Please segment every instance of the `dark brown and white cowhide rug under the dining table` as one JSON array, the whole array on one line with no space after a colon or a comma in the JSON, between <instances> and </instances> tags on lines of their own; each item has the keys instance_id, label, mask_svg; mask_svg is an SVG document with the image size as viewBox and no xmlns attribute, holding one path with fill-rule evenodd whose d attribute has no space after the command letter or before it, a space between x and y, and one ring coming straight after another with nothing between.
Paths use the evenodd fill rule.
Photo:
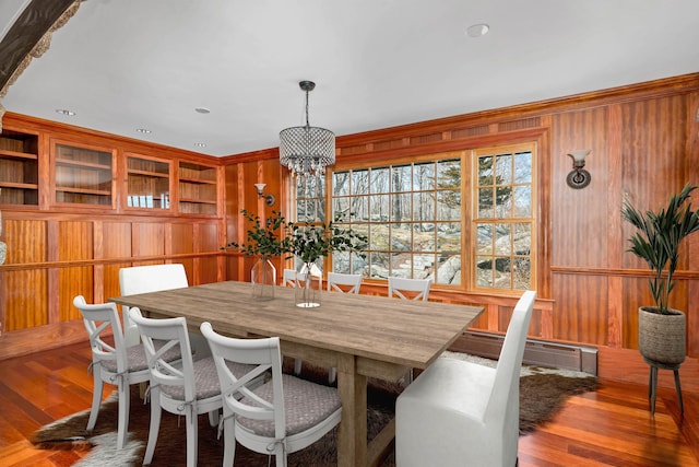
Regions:
<instances>
[{"instance_id":1,"label":"dark brown and white cowhide rug under the dining table","mask_svg":"<svg viewBox=\"0 0 699 467\"><path fill-rule=\"evenodd\" d=\"M445 352L445 357L476 361L495 365L496 362L463 353ZM285 362L285 369L293 367L293 361ZM327 371L304 364L303 376L324 383ZM536 427L550 420L560 409L566 398L573 394L595 390L597 381L587 373L522 366L520 378L520 434L534 431ZM402 382L387 383L370 380L367 393L367 431L372 439L393 417L395 397L402 390ZM141 465L149 432L149 407L139 398L139 392L131 392L131 415L129 419L129 442L125 450L116 450L117 401L112 396L103 402L97 424L92 433L85 431L90 410L85 410L51 424L34 433L32 442L45 450L88 450L75 466L125 466ZM115 393L116 395L116 393ZM181 424L181 427L179 425ZM220 466L223 457L223 440L216 436L216 429L209 425L208 417L199 417L199 466ZM183 465L186 458L186 432L183 419L163 412L158 442L152 466ZM288 456L289 466L334 466L336 465L336 429L313 445ZM254 467L266 466L268 456L252 453L242 446L236 447L235 465ZM383 467L395 465L390 454Z\"/></svg>"}]
</instances>

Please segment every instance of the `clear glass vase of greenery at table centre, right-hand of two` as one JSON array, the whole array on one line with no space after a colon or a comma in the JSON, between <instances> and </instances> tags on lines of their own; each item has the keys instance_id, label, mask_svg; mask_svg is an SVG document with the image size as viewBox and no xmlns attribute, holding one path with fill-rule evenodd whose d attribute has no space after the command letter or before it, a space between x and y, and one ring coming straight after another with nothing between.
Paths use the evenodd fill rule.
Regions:
<instances>
[{"instance_id":1,"label":"clear glass vase of greenery at table centre, right-hand of two","mask_svg":"<svg viewBox=\"0 0 699 467\"><path fill-rule=\"evenodd\" d=\"M335 219L335 222L341 219ZM284 249L304 264L296 281L296 305L320 306L321 276L317 261L334 252L356 252L366 246L367 236L352 229L341 229L335 222L311 224L309 222L286 225Z\"/></svg>"}]
</instances>

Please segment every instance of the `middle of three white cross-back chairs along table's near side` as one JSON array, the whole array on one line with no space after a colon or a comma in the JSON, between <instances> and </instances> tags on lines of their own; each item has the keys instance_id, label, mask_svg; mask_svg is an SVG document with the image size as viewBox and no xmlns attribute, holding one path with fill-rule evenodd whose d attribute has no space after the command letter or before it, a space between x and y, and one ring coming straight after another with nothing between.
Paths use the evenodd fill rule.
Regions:
<instances>
[{"instance_id":1,"label":"middle of three white cross-back chairs along table's near side","mask_svg":"<svg viewBox=\"0 0 699 467\"><path fill-rule=\"evenodd\" d=\"M152 319L141 315L139 308L129 310L129 318L137 325L143 342L150 370L151 424L143 464L151 464L161 427L162 410L185 416L187 431L187 466L196 466L198 458L198 416L209 413L212 427L218 422L222 408L221 387L216 367L211 355L193 360L187 322L183 317ZM168 363L163 355L170 349L180 349L179 364ZM233 365L237 375L250 367ZM162 453L167 457L167 453ZM169 459L171 465L181 459Z\"/></svg>"}]
</instances>

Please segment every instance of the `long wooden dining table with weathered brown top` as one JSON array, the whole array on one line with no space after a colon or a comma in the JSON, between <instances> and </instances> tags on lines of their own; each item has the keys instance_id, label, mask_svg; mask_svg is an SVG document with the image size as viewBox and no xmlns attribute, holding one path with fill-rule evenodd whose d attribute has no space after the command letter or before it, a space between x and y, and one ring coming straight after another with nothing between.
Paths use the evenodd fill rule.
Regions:
<instances>
[{"instance_id":1,"label":"long wooden dining table with weathered brown top","mask_svg":"<svg viewBox=\"0 0 699 467\"><path fill-rule=\"evenodd\" d=\"M152 317L183 316L191 329L209 322L235 337L279 336L282 353L337 369L342 421L337 465L377 465L395 435L392 421L367 443L367 377L399 381L426 369L483 312L481 306L411 302L321 292L321 306L297 307L294 290L253 300L249 282L204 285L109 299Z\"/></svg>"}]
</instances>

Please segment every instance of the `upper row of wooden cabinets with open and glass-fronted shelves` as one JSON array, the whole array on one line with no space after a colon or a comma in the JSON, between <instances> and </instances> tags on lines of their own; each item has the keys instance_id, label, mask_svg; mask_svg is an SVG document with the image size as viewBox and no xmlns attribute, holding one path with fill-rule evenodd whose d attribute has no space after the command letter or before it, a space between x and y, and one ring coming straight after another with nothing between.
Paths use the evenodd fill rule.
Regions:
<instances>
[{"instance_id":1,"label":"upper row of wooden cabinets with open and glass-fronted shelves","mask_svg":"<svg viewBox=\"0 0 699 467\"><path fill-rule=\"evenodd\" d=\"M0 133L0 207L220 215L222 168L216 163L62 138L48 141L48 151L40 153L38 133L8 128ZM43 165L49 174L44 179ZM42 190L49 194L47 206L40 203Z\"/></svg>"}]
</instances>

